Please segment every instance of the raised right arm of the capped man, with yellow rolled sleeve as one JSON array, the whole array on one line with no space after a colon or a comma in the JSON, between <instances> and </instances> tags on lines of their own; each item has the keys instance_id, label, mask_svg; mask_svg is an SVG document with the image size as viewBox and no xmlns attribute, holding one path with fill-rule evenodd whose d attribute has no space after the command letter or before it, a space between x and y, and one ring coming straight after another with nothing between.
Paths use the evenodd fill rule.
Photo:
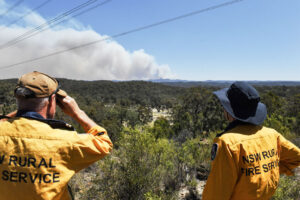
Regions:
<instances>
[{"instance_id":1,"label":"raised right arm of the capped man, with yellow rolled sleeve","mask_svg":"<svg viewBox=\"0 0 300 200\"><path fill-rule=\"evenodd\" d=\"M75 119L88 133L73 138L69 168L77 172L108 155L113 144L106 130L90 119L70 96L59 97L57 103L64 113Z\"/></svg>"}]
</instances>

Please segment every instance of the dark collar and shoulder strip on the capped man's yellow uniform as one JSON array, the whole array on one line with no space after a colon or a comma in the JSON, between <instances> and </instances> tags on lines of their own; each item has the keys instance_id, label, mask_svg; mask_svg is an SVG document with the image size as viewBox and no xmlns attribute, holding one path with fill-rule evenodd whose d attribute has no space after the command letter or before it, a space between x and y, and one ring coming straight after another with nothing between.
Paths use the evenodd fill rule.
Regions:
<instances>
[{"instance_id":1,"label":"dark collar and shoulder strip on the capped man's yellow uniform","mask_svg":"<svg viewBox=\"0 0 300 200\"><path fill-rule=\"evenodd\" d=\"M65 130L70 130L70 131L75 130L74 127L70 124L67 124L60 120L45 119L42 115L40 115L37 112L33 112L33 111L18 110L16 117L35 119L35 120L38 120L38 121L48 124L52 128L65 129Z\"/></svg>"}]
</instances>

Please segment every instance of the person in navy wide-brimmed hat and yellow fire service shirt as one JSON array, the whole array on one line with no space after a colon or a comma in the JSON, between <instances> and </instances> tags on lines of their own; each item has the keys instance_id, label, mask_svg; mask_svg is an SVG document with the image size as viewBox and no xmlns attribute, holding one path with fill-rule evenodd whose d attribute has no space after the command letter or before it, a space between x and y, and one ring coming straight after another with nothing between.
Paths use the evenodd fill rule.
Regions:
<instances>
[{"instance_id":1,"label":"person in navy wide-brimmed hat and yellow fire service shirt","mask_svg":"<svg viewBox=\"0 0 300 200\"><path fill-rule=\"evenodd\" d=\"M267 200L282 173L293 175L300 150L281 134L261 126L267 110L245 82L214 92L230 124L214 139L211 172L203 200Z\"/></svg>"}]
</instances>

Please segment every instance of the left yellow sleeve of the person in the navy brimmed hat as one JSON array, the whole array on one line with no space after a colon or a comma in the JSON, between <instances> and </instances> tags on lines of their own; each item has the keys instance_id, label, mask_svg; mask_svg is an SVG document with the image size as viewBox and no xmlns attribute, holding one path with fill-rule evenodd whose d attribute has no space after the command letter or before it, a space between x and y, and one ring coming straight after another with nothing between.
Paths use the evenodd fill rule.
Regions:
<instances>
[{"instance_id":1,"label":"left yellow sleeve of the person in the navy brimmed hat","mask_svg":"<svg viewBox=\"0 0 300 200\"><path fill-rule=\"evenodd\" d=\"M230 199L237 182L237 167L228 144L219 138L216 138L214 142L211 171L202 199L227 200Z\"/></svg>"}]
</instances>

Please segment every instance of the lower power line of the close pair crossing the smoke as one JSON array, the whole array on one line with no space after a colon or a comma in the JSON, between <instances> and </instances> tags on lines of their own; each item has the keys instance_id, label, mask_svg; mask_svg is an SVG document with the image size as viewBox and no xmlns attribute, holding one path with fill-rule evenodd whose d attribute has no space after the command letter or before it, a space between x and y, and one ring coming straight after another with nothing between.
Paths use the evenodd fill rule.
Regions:
<instances>
[{"instance_id":1,"label":"lower power line of the close pair crossing the smoke","mask_svg":"<svg viewBox=\"0 0 300 200\"><path fill-rule=\"evenodd\" d=\"M12 46L12 45L17 44L17 43L19 43L19 42L22 42L23 40L26 40L26 39L28 39L28 38L31 38L31 37L37 35L37 34L40 34L40 33L44 32L44 31L46 31L46 30L48 30L48 29L50 29L50 28L52 28L52 27L54 27L54 26L56 26L56 25L58 25L58 24L61 24L61 23L65 22L65 21L67 21L67 20L69 20L69 19L71 19L71 18L75 18L75 17L78 17L78 16L80 16L80 15L83 15L84 13L89 12L89 11L91 11L91 10L94 10L94 9L96 9L96 8L102 6L102 5L105 5L105 4L109 3L110 1L112 1L112 0L106 0L106 1L104 1L104 2L102 2L102 3L99 3L99 4L97 4L97 5L95 5L95 6L92 6L92 7L88 8L88 9L85 9L85 10L83 10L82 12L77 13L76 15L70 16L70 17L68 17L67 19L64 19L64 20L62 20L62 21L59 21L59 22L57 22L57 23L55 23L55 24L51 24L51 25L45 27L44 29L41 28L41 29L39 29L38 32L33 32L32 34L29 34L28 36L24 36L23 38L20 38L19 40L12 41L12 42L9 44L9 46ZM6 47L9 47L9 46L6 46ZM3 47L3 48L6 48L6 47ZM0 46L0 50L1 50L1 49L2 49L2 48L1 48L1 46Z\"/></svg>"}]
</instances>

